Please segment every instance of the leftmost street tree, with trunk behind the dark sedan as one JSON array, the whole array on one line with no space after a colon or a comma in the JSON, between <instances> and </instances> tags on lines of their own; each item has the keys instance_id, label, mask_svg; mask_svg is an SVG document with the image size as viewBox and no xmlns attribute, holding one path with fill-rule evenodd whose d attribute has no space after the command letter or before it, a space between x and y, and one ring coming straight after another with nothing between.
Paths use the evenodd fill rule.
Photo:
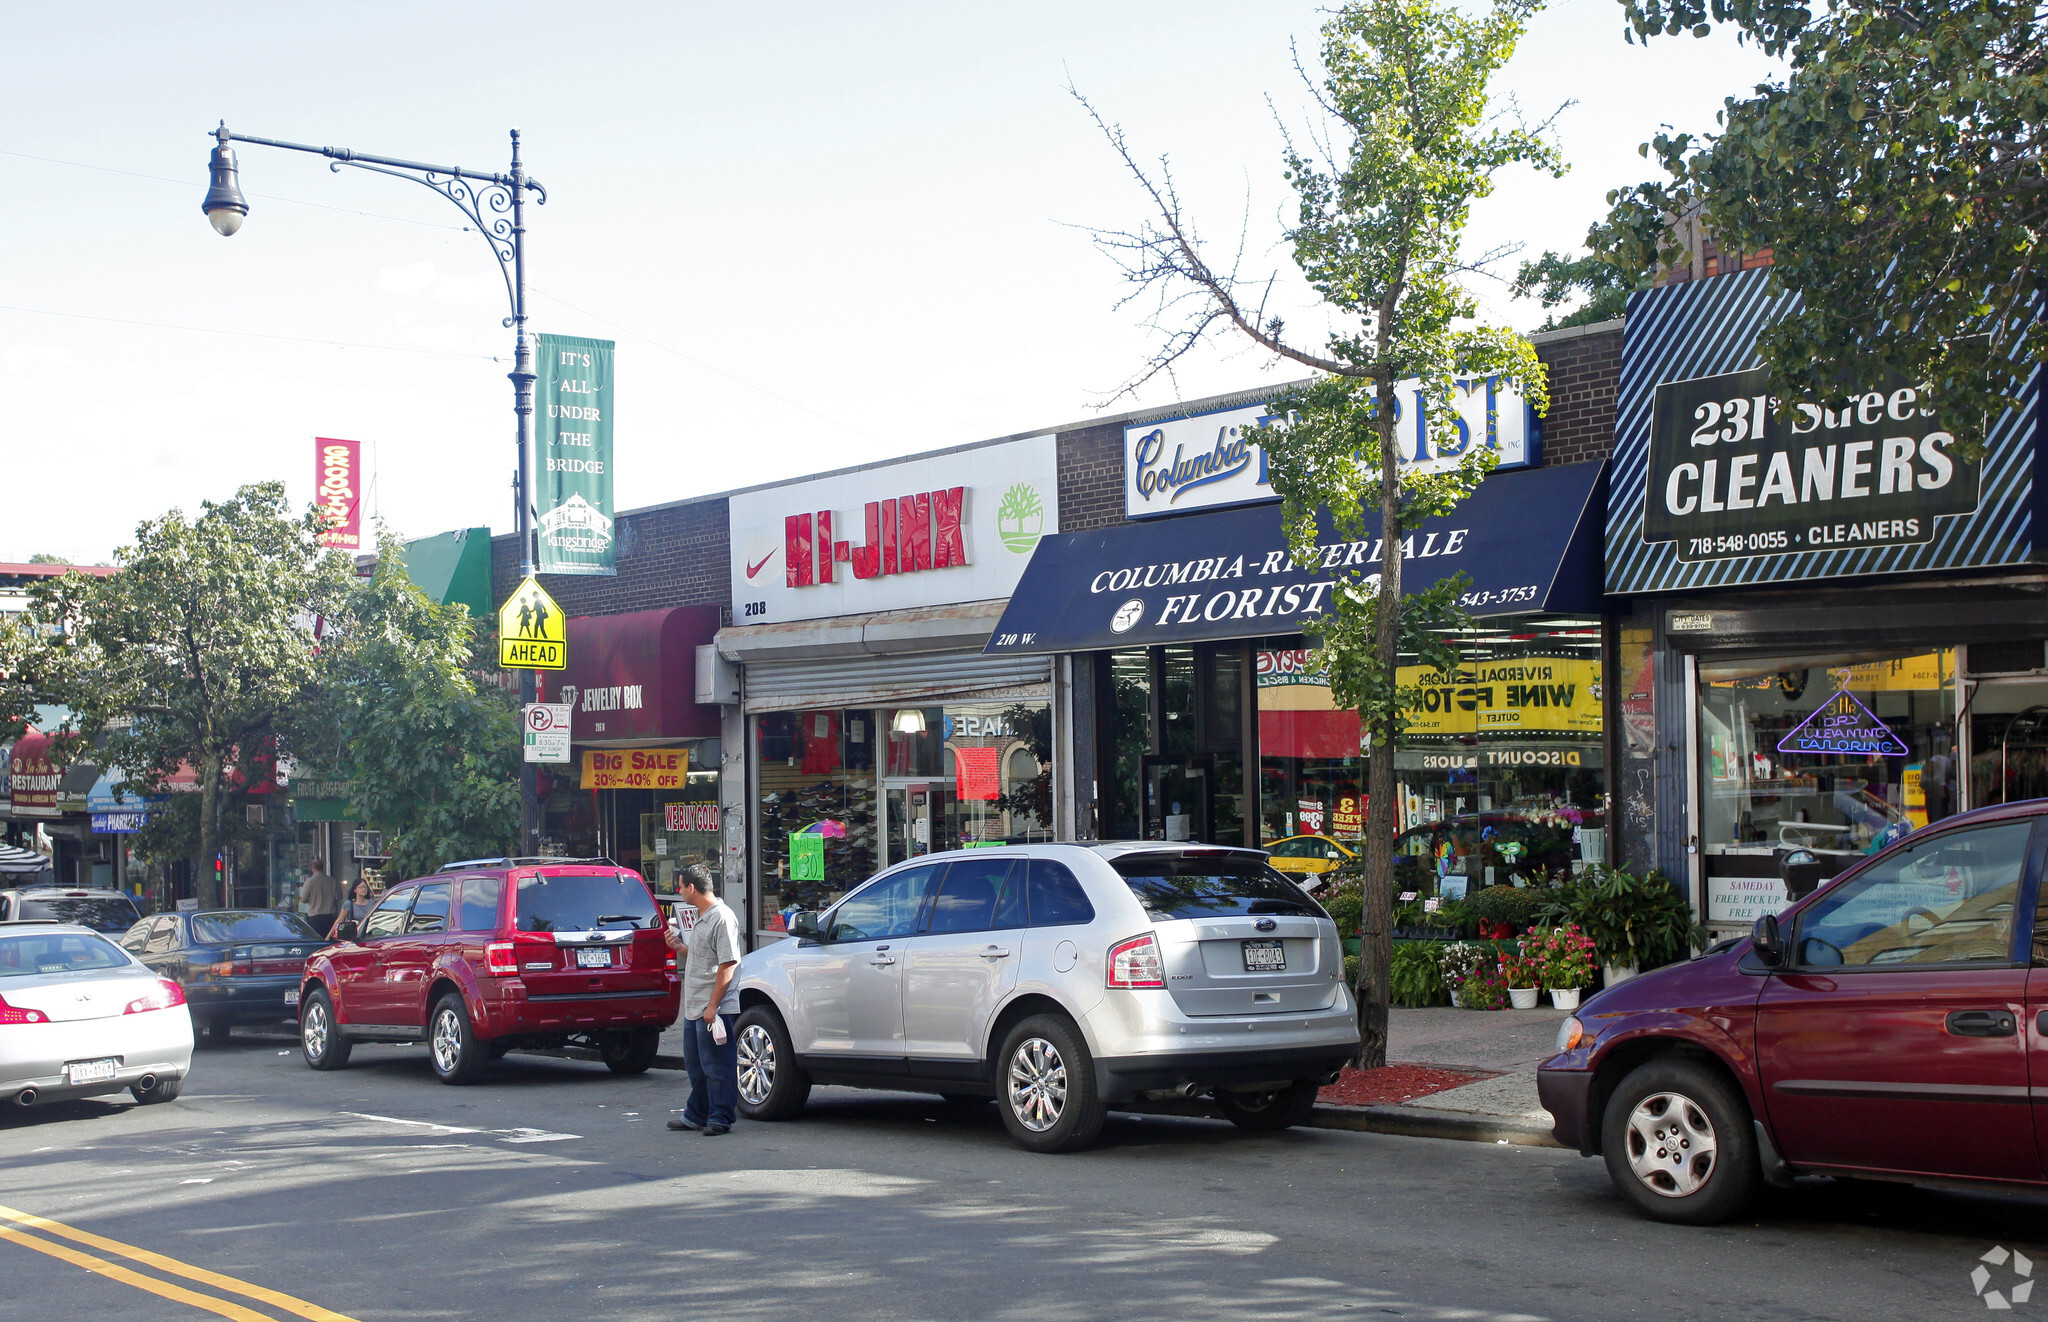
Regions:
<instances>
[{"instance_id":1,"label":"leftmost street tree, with trunk behind the dark sedan","mask_svg":"<svg viewBox=\"0 0 2048 1322\"><path fill-rule=\"evenodd\" d=\"M145 522L117 553L119 573L66 573L29 587L29 610L0 632L0 712L70 710L55 735L76 757L98 739L100 765L141 794L180 767L197 774L184 839L201 902L217 905L213 857L227 810L293 751L295 714L317 681L313 620L340 598L346 557L322 553L311 516L291 518L283 483L242 487ZM20 722L12 722L18 731Z\"/></svg>"}]
</instances>

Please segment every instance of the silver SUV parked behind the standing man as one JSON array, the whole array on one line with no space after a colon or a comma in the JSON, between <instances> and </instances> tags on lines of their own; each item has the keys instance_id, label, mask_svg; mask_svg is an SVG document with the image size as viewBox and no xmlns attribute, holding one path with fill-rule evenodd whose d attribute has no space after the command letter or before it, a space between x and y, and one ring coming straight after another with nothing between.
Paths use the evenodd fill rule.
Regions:
<instances>
[{"instance_id":1,"label":"silver SUV parked behind the standing man","mask_svg":"<svg viewBox=\"0 0 2048 1322\"><path fill-rule=\"evenodd\" d=\"M1337 927L1255 849L1012 845L879 874L739 964L739 1111L813 1083L995 1097L1034 1152L1110 1105L1303 1123L1358 1052Z\"/></svg>"}]
</instances>

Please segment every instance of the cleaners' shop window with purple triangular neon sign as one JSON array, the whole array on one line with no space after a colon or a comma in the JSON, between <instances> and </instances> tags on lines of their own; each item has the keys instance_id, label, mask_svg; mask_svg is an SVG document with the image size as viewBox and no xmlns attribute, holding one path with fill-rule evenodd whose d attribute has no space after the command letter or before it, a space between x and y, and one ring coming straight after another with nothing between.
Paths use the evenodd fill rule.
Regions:
<instances>
[{"instance_id":1,"label":"cleaners' shop window with purple triangular neon sign","mask_svg":"<svg viewBox=\"0 0 2048 1322\"><path fill-rule=\"evenodd\" d=\"M1786 902L1782 855L1821 876L1956 812L1952 651L1700 663L1708 921Z\"/></svg>"}]
</instances>

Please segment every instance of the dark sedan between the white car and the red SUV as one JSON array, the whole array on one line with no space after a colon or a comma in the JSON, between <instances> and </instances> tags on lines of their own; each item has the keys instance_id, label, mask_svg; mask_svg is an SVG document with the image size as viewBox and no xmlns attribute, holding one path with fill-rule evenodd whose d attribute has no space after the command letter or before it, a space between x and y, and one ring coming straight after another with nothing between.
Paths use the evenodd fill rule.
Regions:
<instances>
[{"instance_id":1,"label":"dark sedan between the white car and the red SUV","mask_svg":"<svg viewBox=\"0 0 2048 1322\"><path fill-rule=\"evenodd\" d=\"M203 909L143 919L121 945L182 986L193 1027L221 1044L236 1023L297 1023L305 956L326 941L283 909Z\"/></svg>"}]
</instances>

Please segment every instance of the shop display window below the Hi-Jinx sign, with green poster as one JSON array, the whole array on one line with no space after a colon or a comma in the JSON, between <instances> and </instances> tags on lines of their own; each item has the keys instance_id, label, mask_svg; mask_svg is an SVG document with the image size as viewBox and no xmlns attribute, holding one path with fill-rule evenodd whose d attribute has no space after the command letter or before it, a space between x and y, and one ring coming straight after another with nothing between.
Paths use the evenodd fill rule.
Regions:
<instances>
[{"instance_id":1,"label":"shop display window below the Hi-Jinx sign, with green poster","mask_svg":"<svg viewBox=\"0 0 2048 1322\"><path fill-rule=\"evenodd\" d=\"M1047 702L770 712L754 745L762 931L903 860L1053 837Z\"/></svg>"}]
</instances>

